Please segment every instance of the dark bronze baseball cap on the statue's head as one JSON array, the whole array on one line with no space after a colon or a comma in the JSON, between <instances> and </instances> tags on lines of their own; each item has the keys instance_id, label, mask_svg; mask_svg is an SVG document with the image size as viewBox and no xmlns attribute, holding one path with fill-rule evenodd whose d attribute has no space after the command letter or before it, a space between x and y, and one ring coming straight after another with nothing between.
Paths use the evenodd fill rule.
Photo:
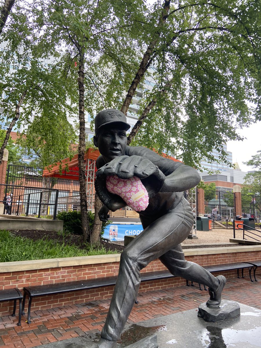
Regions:
<instances>
[{"instance_id":1,"label":"dark bronze baseball cap on the statue's head","mask_svg":"<svg viewBox=\"0 0 261 348\"><path fill-rule=\"evenodd\" d=\"M94 120L95 133L101 127L112 124L112 123L115 123L115 124L118 123L124 126L125 130L128 130L130 128L130 125L127 123L126 116L123 112L116 109L106 109L106 110L98 112L95 117L95 120Z\"/></svg>"}]
</instances>

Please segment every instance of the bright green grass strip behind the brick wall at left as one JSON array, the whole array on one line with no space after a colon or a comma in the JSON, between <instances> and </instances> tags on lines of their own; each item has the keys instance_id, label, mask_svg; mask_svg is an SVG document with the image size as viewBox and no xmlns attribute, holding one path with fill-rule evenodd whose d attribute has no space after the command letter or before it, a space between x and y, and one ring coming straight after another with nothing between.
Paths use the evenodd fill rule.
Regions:
<instances>
[{"instance_id":1,"label":"bright green grass strip behind the brick wall at left","mask_svg":"<svg viewBox=\"0 0 261 348\"><path fill-rule=\"evenodd\" d=\"M90 256L116 254L105 248L86 245L86 250L78 246L57 243L50 239L33 241L29 238L16 237L7 230L0 230L0 262L43 260L54 258L70 258L74 256Z\"/></svg>"}]
</instances>

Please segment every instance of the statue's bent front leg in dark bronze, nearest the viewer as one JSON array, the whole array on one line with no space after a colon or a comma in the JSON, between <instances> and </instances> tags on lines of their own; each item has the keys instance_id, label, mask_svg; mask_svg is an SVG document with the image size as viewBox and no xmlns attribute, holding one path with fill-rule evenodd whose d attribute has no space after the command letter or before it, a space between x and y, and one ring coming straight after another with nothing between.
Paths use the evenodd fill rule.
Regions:
<instances>
[{"instance_id":1,"label":"statue's bent front leg in dark bronze, nearest the viewer","mask_svg":"<svg viewBox=\"0 0 261 348\"><path fill-rule=\"evenodd\" d=\"M151 217L153 221L155 217ZM121 254L119 275L101 337L109 341L120 338L140 286L140 270L180 244L191 231L193 215L185 199L159 217L126 246Z\"/></svg>"}]
</instances>

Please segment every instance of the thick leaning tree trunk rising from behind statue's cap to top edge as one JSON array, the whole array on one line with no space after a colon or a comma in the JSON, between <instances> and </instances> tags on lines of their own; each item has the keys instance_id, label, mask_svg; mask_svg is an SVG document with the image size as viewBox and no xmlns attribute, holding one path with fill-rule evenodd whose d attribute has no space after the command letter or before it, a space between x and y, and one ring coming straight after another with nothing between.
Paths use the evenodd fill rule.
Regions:
<instances>
[{"instance_id":1,"label":"thick leaning tree trunk rising from behind statue's cap to top edge","mask_svg":"<svg viewBox=\"0 0 261 348\"><path fill-rule=\"evenodd\" d=\"M138 84L140 83L144 73L147 71L147 69L149 68L154 56L152 56L153 53L153 49L155 48L157 42L159 41L159 37L160 37L160 33L162 31L162 27L164 26L164 23L166 22L166 19L168 17L168 12L169 12L169 4L170 4L171 0L165 0L164 2L164 6L163 6L163 11L159 17L159 22L158 22L158 26L157 26L157 31L154 34L146 52L143 55L142 61L140 63L140 68L136 73L135 78L133 79L128 93L126 95L125 101L122 104L122 108L121 111L123 113L127 113L128 108L129 108L129 104L132 101L132 97L134 96L135 90L138 86Z\"/></svg>"}]
</instances>

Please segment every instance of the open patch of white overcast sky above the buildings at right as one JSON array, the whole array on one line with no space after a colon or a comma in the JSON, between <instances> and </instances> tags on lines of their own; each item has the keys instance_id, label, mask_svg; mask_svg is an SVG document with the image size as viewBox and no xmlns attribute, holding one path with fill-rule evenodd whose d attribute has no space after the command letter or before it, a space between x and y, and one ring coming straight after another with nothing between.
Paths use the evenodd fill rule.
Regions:
<instances>
[{"instance_id":1,"label":"open patch of white overcast sky above the buildings at right","mask_svg":"<svg viewBox=\"0 0 261 348\"><path fill-rule=\"evenodd\" d=\"M258 150L261 150L261 121L238 129L238 133L246 139L243 141L228 141L227 150L232 152L233 163L237 162L242 172L253 170L242 162L252 159Z\"/></svg>"}]
</instances>

